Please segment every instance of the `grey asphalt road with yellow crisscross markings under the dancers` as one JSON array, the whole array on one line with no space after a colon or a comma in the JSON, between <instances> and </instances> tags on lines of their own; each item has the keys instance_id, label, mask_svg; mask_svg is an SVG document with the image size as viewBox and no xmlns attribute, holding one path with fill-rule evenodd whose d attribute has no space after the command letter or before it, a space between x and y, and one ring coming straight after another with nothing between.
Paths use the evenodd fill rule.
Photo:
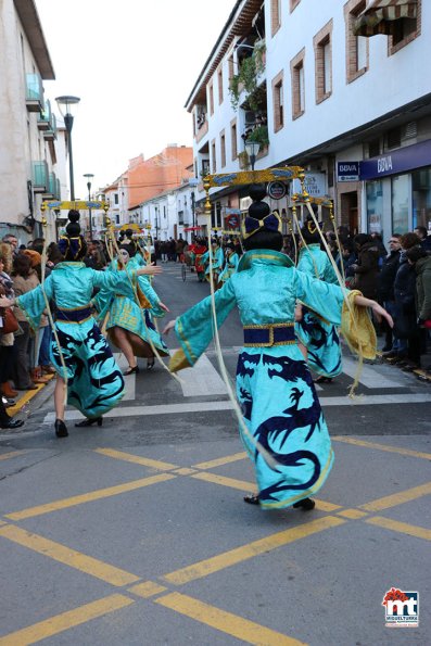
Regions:
<instances>
[{"instance_id":1,"label":"grey asphalt road with yellow crisscross markings under the dancers","mask_svg":"<svg viewBox=\"0 0 431 646\"><path fill-rule=\"evenodd\" d=\"M174 264L155 288L173 316L208 293ZM233 379L236 314L220 339ZM214 347L182 383L127 378L102 428L68 410L66 440L43 389L0 435L0 646L429 643L431 388L377 363L352 402L344 367L319 391L337 457L310 514L243 504L253 469ZM419 593L419 628L385 628L393 586Z\"/></svg>"}]
</instances>

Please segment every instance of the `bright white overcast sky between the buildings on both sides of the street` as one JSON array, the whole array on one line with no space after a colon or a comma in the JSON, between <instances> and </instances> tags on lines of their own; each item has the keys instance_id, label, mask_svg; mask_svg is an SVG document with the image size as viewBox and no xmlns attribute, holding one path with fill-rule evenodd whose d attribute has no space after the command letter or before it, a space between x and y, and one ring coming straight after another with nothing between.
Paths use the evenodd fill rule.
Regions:
<instances>
[{"instance_id":1,"label":"bright white overcast sky between the buildings on both sides of the street","mask_svg":"<svg viewBox=\"0 0 431 646\"><path fill-rule=\"evenodd\" d=\"M236 0L36 0L55 71L47 98L80 98L73 126L76 198L128 160L192 144L183 109Z\"/></svg>"}]
</instances>

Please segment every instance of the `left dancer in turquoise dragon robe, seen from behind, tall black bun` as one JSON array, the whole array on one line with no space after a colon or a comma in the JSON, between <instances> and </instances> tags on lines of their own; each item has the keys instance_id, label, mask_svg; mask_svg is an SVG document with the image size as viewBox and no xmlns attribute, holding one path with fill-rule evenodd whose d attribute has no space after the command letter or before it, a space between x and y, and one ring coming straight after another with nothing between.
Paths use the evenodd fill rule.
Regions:
<instances>
[{"instance_id":1,"label":"left dancer in turquoise dragon robe, seen from behind, tall black bun","mask_svg":"<svg viewBox=\"0 0 431 646\"><path fill-rule=\"evenodd\" d=\"M33 329L39 326L40 317L49 301L56 306L55 335L51 341L51 363L58 377L54 391L55 434L68 435L64 423L64 388L67 377L67 402L87 417L76 426L102 423L102 415L111 410L122 398L124 379L106 340L101 334L91 315L90 299L96 288L115 293L129 293L129 278L125 271L96 271L81 262L87 245L79 235L79 213L69 211L71 223L67 236L60 239L59 248L64 262L59 263L42 286L27 292L8 305L21 307ZM131 276L154 275L157 267L143 267ZM60 347L58 344L60 342Z\"/></svg>"}]
</instances>

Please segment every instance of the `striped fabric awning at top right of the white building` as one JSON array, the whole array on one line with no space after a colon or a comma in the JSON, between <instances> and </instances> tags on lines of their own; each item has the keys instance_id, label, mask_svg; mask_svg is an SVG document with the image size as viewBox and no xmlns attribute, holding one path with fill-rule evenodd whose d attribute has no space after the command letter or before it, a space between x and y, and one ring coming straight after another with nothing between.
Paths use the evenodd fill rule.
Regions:
<instances>
[{"instance_id":1,"label":"striped fabric awning at top right of the white building","mask_svg":"<svg viewBox=\"0 0 431 646\"><path fill-rule=\"evenodd\" d=\"M395 21L416 18L417 0L372 0L353 24L355 36L377 36L394 34Z\"/></svg>"}]
</instances>

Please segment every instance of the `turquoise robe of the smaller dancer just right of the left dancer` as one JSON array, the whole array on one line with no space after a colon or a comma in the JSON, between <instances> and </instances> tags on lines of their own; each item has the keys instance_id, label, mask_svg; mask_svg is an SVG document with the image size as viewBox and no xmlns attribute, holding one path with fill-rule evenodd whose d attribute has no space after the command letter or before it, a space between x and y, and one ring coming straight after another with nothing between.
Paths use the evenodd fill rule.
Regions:
<instances>
[{"instance_id":1,"label":"turquoise robe of the smaller dancer just right of the left dancer","mask_svg":"<svg viewBox=\"0 0 431 646\"><path fill-rule=\"evenodd\" d=\"M127 271L129 275L134 269L142 266L142 257L138 254L130 258L127 263ZM109 275L121 276L122 271L118 267L117 261L112 261L106 273ZM137 289L139 305L137 303L134 287ZM123 328L132 334L136 334L144 343L151 343L157 349L163 356L169 354L169 351L162 340L153 317L161 318L165 316L164 309L160 307L161 300L151 287L151 281L148 276L138 276L132 279L132 284L128 281L125 289L113 292L110 289L102 289L93 299L92 303L98 311L97 320L101 326L107 316L106 330L110 341L116 345L115 335L112 333L114 327ZM134 337L129 338L132 345L135 356L147 356L142 344L137 342Z\"/></svg>"}]
</instances>

